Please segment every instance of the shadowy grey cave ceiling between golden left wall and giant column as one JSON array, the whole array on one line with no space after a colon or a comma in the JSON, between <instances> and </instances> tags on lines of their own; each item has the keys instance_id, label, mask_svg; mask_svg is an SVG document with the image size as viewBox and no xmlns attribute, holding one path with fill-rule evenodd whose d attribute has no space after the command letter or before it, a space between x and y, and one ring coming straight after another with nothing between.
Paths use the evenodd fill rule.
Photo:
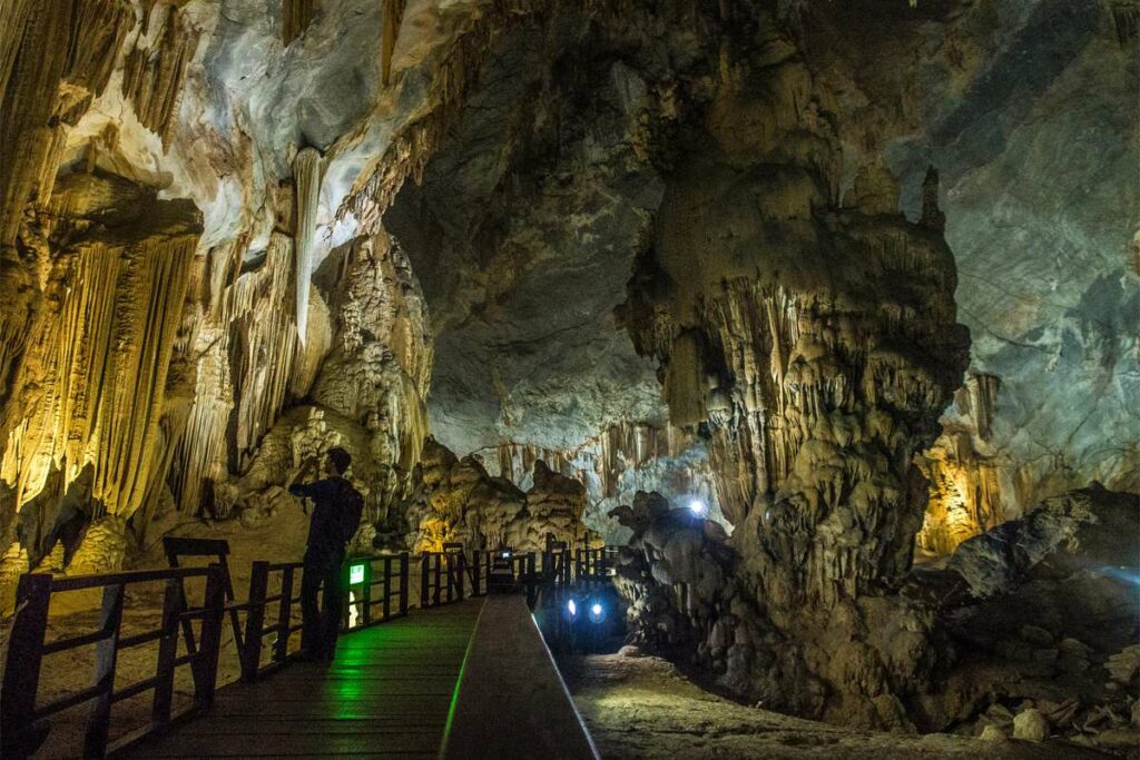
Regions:
<instances>
[{"instance_id":1,"label":"shadowy grey cave ceiling between golden left wall and giant column","mask_svg":"<svg viewBox=\"0 0 1140 760\"><path fill-rule=\"evenodd\" d=\"M505 34L463 122L384 216L431 308L429 408L457 451L573 449L665 418L656 367L614 316L661 198L636 153L646 84L573 40L581 28Z\"/></svg>"}]
</instances>

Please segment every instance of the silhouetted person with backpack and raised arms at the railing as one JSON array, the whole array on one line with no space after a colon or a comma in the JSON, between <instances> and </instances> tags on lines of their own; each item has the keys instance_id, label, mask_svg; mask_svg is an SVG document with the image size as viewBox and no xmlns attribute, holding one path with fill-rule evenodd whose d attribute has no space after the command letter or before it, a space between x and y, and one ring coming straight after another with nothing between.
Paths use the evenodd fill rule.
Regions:
<instances>
[{"instance_id":1,"label":"silhouetted person with backpack and raised arms at the railing","mask_svg":"<svg viewBox=\"0 0 1140 760\"><path fill-rule=\"evenodd\" d=\"M309 522L301 577L301 657L318 662L332 662L336 654L336 636L344 610L345 583L341 578L344 547L360 526L364 513L364 497L344 477L352 457L341 448L329 449L327 456L332 475L288 487L290 493L311 499L316 505ZM302 467L298 479L311 469L315 461ZM317 596L321 590L324 604L318 606Z\"/></svg>"}]
</instances>

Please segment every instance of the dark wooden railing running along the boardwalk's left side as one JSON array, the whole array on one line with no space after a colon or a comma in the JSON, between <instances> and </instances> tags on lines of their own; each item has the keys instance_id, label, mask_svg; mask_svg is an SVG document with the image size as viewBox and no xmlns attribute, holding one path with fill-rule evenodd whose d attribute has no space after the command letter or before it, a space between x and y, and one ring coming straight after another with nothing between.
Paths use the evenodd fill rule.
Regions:
<instances>
[{"instance_id":1,"label":"dark wooden railing running along the boardwalk's left side","mask_svg":"<svg viewBox=\"0 0 1140 760\"><path fill-rule=\"evenodd\" d=\"M220 556L228 553L221 546L209 548ZM544 574L561 583L568 583L571 578L584 580L603 577L612 566L616 554L612 547L579 549L571 567L569 550L563 547L555 549L547 553L548 559L544 557L543 570ZM413 562L420 563L420 606L425 607L463 600L469 596L469 582L470 595L486 594L491 561L491 553L473 551L469 562L467 555L458 549L423 553L415 561L406 551L355 558L353 563L366 563L366 575L363 583L353 586L361 590L361 596L352 604L358 605L363 614L361 623L353 626L351 630L408 614L412 606L409 586ZM532 606L539 579L536 555L515 554L511 562L515 577L526 582L528 603ZM285 663L288 660L291 636L301 628L293 622L293 612L300 600L295 590L299 587L298 574L302 572L301 562L253 563L250 593L244 602L233 600L228 575L220 563L211 563L207 567L170 567L67 578L54 578L47 573L23 575L16 595L18 612L13 622L7 665L0 684L0 755L6 760L28 757L35 750L33 744L44 718L93 701L84 738L84 753L89 757L103 757L108 746L111 705L147 690L154 692L152 722L131 738L137 739L150 730L162 728L180 717L173 714L172 702L174 671L182 665L189 665L193 673L194 706L190 711L207 708L218 687L221 631L227 615L236 621L236 615L245 614L243 630L235 636L243 679L256 679L263 670ZM269 594L269 580L274 575L279 575L280 589ZM203 578L206 581L202 606L193 607L186 602L185 581L190 578ZM125 587L157 581L165 583L162 626L121 636ZM381 588L380 596L373 593L377 587ZM104 589L99 628L89 634L44 641L51 596L95 588ZM393 605L393 599L398 599L398 605ZM270 605L274 604L277 605L276 621L267 624L267 620L271 619ZM374 614L377 605L378 614ZM192 632L195 621L198 628L196 644ZM262 665L262 643L268 635L276 635L277 638L272 644L270 662ZM187 644L187 652L182 655L178 654L180 636L185 636ZM115 689L117 652L150 641L158 641L155 675ZM38 708L35 695L43 656L89 645L95 645L97 649L92 685Z\"/></svg>"}]
</instances>

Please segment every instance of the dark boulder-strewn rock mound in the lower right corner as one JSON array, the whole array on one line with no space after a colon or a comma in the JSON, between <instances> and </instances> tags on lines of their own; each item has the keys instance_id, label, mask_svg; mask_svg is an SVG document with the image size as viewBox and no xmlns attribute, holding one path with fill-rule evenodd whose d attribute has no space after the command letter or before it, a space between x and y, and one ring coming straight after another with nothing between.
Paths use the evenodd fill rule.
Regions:
<instances>
[{"instance_id":1,"label":"dark boulder-strewn rock mound in the lower right corner","mask_svg":"<svg viewBox=\"0 0 1140 760\"><path fill-rule=\"evenodd\" d=\"M1114 749L1138 677L1123 665L1140 636L1138 532L1140 498L1096 485L964 541L945 569L917 570L903 594L923 599L953 643L922 697L930 727L1012 721L1019 738Z\"/></svg>"}]
</instances>

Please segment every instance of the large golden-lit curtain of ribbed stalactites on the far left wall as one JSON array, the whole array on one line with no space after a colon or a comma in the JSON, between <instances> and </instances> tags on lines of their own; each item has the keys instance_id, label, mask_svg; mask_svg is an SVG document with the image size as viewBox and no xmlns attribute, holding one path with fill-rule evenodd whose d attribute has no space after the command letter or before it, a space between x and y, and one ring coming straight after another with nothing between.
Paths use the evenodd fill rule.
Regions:
<instances>
[{"instance_id":1,"label":"large golden-lit curtain of ribbed stalactites on the far left wall","mask_svg":"<svg viewBox=\"0 0 1140 760\"><path fill-rule=\"evenodd\" d=\"M17 508L54 469L66 488L88 464L91 497L106 513L130 516L145 500L199 232L187 202L150 213L153 227L127 239L98 232L58 255L56 275L68 286L22 357L16 384L28 398L2 458Z\"/></svg>"}]
</instances>

